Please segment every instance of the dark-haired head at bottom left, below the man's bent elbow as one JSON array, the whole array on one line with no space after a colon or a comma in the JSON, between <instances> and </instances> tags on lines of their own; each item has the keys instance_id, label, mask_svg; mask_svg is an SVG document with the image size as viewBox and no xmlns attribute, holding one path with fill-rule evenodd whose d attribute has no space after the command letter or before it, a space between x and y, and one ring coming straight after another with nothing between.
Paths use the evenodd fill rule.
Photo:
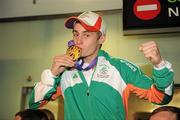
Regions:
<instances>
[{"instance_id":1,"label":"dark-haired head at bottom left, below the man's bent elbow","mask_svg":"<svg viewBox=\"0 0 180 120\"><path fill-rule=\"evenodd\" d=\"M39 109L25 109L16 113L14 120L48 120L48 117Z\"/></svg>"}]
</instances>

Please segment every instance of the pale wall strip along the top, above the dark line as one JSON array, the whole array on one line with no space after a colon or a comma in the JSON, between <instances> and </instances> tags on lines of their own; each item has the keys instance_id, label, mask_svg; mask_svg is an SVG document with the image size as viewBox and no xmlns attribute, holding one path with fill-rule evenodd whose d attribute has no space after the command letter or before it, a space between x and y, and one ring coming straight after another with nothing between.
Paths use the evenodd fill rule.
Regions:
<instances>
[{"instance_id":1,"label":"pale wall strip along the top, above the dark line","mask_svg":"<svg viewBox=\"0 0 180 120\"><path fill-rule=\"evenodd\" d=\"M0 0L0 18L122 9L122 0Z\"/></svg>"}]
</instances>

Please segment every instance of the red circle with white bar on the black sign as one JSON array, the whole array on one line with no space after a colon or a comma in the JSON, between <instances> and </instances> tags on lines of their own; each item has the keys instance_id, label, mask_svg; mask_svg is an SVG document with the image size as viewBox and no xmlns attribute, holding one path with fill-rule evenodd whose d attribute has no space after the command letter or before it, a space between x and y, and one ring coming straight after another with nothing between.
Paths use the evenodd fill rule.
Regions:
<instances>
[{"instance_id":1,"label":"red circle with white bar on the black sign","mask_svg":"<svg viewBox=\"0 0 180 120\"><path fill-rule=\"evenodd\" d=\"M137 0L133 12L139 19L151 20L160 13L161 4L158 0Z\"/></svg>"}]
</instances>

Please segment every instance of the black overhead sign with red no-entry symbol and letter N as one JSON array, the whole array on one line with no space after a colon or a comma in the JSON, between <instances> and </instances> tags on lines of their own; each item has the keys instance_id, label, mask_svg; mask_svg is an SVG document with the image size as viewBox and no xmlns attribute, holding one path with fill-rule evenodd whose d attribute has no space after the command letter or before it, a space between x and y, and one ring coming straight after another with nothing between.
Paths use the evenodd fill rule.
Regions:
<instances>
[{"instance_id":1,"label":"black overhead sign with red no-entry symbol and letter N","mask_svg":"<svg viewBox=\"0 0 180 120\"><path fill-rule=\"evenodd\" d=\"M123 31L124 35L180 31L180 0L123 0Z\"/></svg>"}]
</instances>

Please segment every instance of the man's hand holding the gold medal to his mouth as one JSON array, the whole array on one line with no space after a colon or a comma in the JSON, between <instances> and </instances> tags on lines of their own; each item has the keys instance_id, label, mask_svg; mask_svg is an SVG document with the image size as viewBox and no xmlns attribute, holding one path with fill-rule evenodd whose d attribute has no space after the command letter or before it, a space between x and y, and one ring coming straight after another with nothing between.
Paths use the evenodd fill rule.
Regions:
<instances>
[{"instance_id":1,"label":"man's hand holding the gold medal to his mouth","mask_svg":"<svg viewBox=\"0 0 180 120\"><path fill-rule=\"evenodd\" d=\"M57 76L60 73L62 73L65 70L65 68L73 67L73 66L74 66L74 61L72 60L71 57L69 57L66 54L58 55L58 56L55 56L53 59L51 72L54 76Z\"/></svg>"}]
</instances>

